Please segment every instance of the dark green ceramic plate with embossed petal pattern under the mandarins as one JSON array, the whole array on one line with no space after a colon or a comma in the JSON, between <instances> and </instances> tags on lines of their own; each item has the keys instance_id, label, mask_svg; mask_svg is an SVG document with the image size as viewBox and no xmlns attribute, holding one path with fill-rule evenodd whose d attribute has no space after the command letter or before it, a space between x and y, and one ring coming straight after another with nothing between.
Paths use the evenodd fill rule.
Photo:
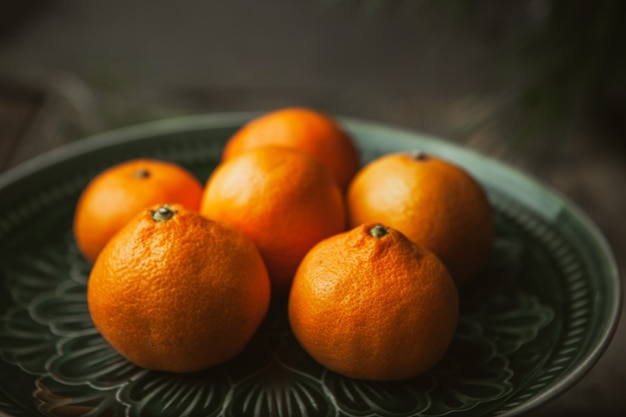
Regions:
<instances>
[{"instance_id":1,"label":"dark green ceramic plate with embossed petal pattern under the mandarins","mask_svg":"<svg viewBox=\"0 0 626 417\"><path fill-rule=\"evenodd\" d=\"M431 372L393 383L336 375L273 308L248 349L191 375L122 359L92 326L89 266L71 234L82 188L111 164L171 160L204 181L250 115L166 120L77 142L0 176L0 415L516 415L570 387L613 334L620 283L609 248L571 203L519 172L443 141L343 120L363 162L422 149L470 170L496 209L497 241Z\"/></svg>"}]
</instances>

